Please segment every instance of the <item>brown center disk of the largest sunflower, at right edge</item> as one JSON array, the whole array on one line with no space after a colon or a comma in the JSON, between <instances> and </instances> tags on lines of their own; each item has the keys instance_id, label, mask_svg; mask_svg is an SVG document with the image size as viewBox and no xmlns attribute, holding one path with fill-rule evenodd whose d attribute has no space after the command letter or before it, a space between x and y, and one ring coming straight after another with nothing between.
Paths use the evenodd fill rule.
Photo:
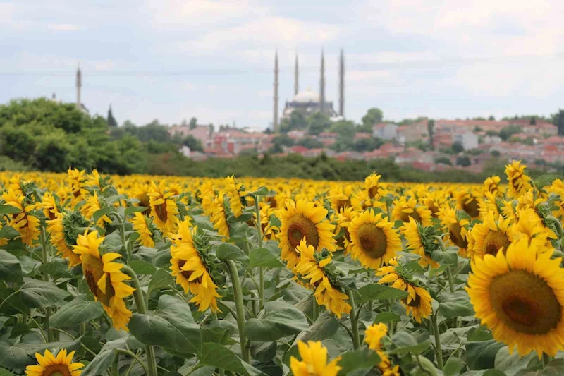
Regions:
<instances>
[{"instance_id":1,"label":"brown center disk of the largest sunflower, at right edge","mask_svg":"<svg viewBox=\"0 0 564 376\"><path fill-rule=\"evenodd\" d=\"M546 334L558 326L561 308L546 281L512 270L492 281L491 303L501 320L517 332Z\"/></svg>"}]
</instances>

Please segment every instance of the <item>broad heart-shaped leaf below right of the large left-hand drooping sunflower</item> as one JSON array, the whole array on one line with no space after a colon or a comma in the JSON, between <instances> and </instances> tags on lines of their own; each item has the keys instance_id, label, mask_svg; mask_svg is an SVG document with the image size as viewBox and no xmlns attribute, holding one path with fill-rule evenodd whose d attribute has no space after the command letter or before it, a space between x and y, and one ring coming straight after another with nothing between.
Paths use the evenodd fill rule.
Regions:
<instances>
[{"instance_id":1,"label":"broad heart-shaped leaf below right of the large left-hand drooping sunflower","mask_svg":"<svg viewBox=\"0 0 564 376\"><path fill-rule=\"evenodd\" d=\"M134 313L129 330L140 342L187 354L200 352L202 334L188 303L162 295L152 315Z\"/></svg>"}]
</instances>

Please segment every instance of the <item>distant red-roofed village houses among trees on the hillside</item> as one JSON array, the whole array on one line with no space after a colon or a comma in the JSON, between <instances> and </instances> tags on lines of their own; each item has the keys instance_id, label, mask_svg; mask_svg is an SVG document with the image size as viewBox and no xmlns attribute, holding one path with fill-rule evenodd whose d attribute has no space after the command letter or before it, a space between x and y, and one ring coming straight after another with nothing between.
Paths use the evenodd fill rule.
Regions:
<instances>
[{"instance_id":1,"label":"distant red-roofed village houses among trees on the hillside","mask_svg":"<svg viewBox=\"0 0 564 376\"><path fill-rule=\"evenodd\" d=\"M507 140L499 135L504 128L519 129ZM214 132L209 126L173 126L169 128L172 136L180 135L200 140L203 152L192 152L183 147L186 157L204 160L209 157L234 158L247 152L264 154L274 146L272 140L276 133L256 133L238 129L226 129ZM298 145L283 147L283 152L273 154L286 156L300 154L303 157L319 157L325 154L341 161L355 159L393 159L401 166L412 166L425 171L445 169L467 169L479 172L484 169L488 159L495 157L505 161L521 159L529 165L564 164L564 137L557 135L558 128L551 123L532 119L516 120L434 120L433 147L429 141L428 120L398 125L378 123L372 126L372 133L360 132L353 136L355 140L376 138L384 142L371 152L345 151L331 149L339 138L338 133L319 133L308 135L305 130L293 130L288 137L299 143L304 138L319 140L323 147L308 149ZM454 146L453 146L454 145ZM420 148L421 146L424 146ZM426 146L426 147L425 147ZM460 157L467 157L467 162L460 163ZM466 158L464 158L466 159ZM457 163L458 162L458 163Z\"/></svg>"}]
</instances>

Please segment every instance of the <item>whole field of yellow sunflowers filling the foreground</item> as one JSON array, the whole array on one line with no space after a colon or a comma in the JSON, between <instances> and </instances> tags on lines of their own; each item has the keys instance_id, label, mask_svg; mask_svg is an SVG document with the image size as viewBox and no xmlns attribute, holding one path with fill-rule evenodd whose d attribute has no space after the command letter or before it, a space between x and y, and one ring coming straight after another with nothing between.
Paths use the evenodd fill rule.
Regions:
<instances>
[{"instance_id":1,"label":"whole field of yellow sunflowers filling the foreground","mask_svg":"<svg viewBox=\"0 0 564 376\"><path fill-rule=\"evenodd\" d=\"M0 172L0 376L564 375L564 181Z\"/></svg>"}]
</instances>

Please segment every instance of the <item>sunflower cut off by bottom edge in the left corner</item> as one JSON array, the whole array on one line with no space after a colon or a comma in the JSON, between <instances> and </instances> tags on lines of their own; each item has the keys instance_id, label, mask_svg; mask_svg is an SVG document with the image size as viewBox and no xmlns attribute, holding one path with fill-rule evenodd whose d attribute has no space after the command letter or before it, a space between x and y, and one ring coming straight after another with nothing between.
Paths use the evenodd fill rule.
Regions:
<instances>
[{"instance_id":1,"label":"sunflower cut off by bottom edge in the left corner","mask_svg":"<svg viewBox=\"0 0 564 376\"><path fill-rule=\"evenodd\" d=\"M37 359L36 365L28 365L25 368L27 376L79 376L82 373L80 368L84 367L82 363L73 363L74 351L68 353L63 348L57 356L54 356L49 350L45 350L44 355L35 353Z\"/></svg>"}]
</instances>

